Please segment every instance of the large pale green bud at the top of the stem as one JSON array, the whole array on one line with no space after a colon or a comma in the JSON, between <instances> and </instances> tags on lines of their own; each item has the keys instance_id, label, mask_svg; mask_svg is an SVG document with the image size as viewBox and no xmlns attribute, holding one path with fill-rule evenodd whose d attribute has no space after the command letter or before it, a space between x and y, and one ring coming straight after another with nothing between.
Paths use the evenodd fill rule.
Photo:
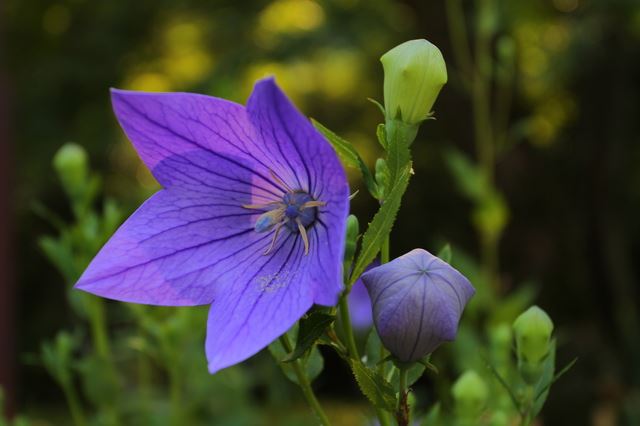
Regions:
<instances>
[{"instance_id":1,"label":"large pale green bud at the top of the stem","mask_svg":"<svg viewBox=\"0 0 640 426\"><path fill-rule=\"evenodd\" d=\"M433 107L447 82L447 67L440 50L427 40L410 40L382 58L384 107L387 122L419 124Z\"/></svg>"}]
</instances>

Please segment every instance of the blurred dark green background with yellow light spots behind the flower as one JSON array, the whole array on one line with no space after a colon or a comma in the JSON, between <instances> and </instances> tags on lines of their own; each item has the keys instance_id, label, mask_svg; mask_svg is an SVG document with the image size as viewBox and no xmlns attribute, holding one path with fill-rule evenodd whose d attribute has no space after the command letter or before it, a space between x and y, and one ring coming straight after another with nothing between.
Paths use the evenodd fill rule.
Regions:
<instances>
[{"instance_id":1,"label":"blurred dark green background with yellow light spots behind the flower","mask_svg":"<svg viewBox=\"0 0 640 426\"><path fill-rule=\"evenodd\" d=\"M68 338L77 361L69 361L68 383L91 424L113 424L114 393L132 395L120 424L166 424L171 404L184 407L175 424L305 424L304 401L268 354L206 374L206 312L197 309L104 304L120 381L115 392L101 387L109 380L87 381L104 369L83 355L95 349L93 323L74 308L84 302L70 297L70 281L111 227L158 188L118 128L108 89L243 103L257 78L273 74L306 115L352 141L373 166L382 117L367 98L382 100L379 57L427 38L444 54L449 84L437 120L414 144L416 175L392 256L449 242L460 267L479 277L469 314L478 336L484 325L510 319L509 309L537 303L549 312L558 362L579 361L552 389L541 424L640 424L638 1L9 0L0 7L7 412L32 424L71 424L69 394L51 373L62 361L46 358L46 345L64 352ZM84 147L99 177L89 203L97 222L73 231L84 232L75 243L60 237L78 212L52 165L70 141ZM375 207L363 191L353 201L362 223ZM78 239L93 245L78 248ZM68 256L56 261L62 252ZM454 378L451 354L445 349L441 362ZM320 398L337 424L362 424L364 401L348 370L324 355ZM428 377L418 384L431 395L427 403L446 388L437 380L444 384ZM147 421L132 420L142 406L136 401L147 404Z\"/></svg>"}]
</instances>

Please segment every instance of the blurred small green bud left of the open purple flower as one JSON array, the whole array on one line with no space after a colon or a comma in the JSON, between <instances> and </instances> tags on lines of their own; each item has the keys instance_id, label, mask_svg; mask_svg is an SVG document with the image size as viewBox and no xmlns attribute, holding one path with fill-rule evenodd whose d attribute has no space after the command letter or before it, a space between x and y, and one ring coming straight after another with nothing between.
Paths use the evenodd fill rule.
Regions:
<instances>
[{"instance_id":1,"label":"blurred small green bud left of the open purple flower","mask_svg":"<svg viewBox=\"0 0 640 426\"><path fill-rule=\"evenodd\" d=\"M53 157L53 167L69 195L73 197L84 191L89 171L87 153L80 145L64 144Z\"/></svg>"}]
</instances>

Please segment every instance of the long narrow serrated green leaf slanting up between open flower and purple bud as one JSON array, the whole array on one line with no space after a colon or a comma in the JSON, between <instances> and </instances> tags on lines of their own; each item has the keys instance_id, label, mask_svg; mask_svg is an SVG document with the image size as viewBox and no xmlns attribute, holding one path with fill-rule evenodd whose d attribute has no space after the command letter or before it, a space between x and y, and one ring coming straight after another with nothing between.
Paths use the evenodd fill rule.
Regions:
<instances>
[{"instance_id":1,"label":"long narrow serrated green leaf slanting up between open flower and purple bud","mask_svg":"<svg viewBox=\"0 0 640 426\"><path fill-rule=\"evenodd\" d=\"M385 199L380 210L375 214L367 228L367 231L364 233L360 255L358 256L358 260L356 260L353 271L351 272L349 284L353 284L362 272L364 272L367 265L375 259L376 255L380 251L382 243L391 232L393 222L395 221L398 210L400 209L402 195L409 184L410 173L411 164L409 163L398 176L398 179L389 191L388 197Z\"/></svg>"}]
</instances>

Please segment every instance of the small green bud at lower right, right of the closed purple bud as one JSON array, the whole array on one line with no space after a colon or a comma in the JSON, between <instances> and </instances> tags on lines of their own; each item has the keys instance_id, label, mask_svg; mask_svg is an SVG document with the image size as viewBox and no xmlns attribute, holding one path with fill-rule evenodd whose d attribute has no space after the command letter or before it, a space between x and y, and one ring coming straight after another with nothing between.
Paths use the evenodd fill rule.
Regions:
<instances>
[{"instance_id":1,"label":"small green bud at lower right, right of the closed purple bud","mask_svg":"<svg viewBox=\"0 0 640 426\"><path fill-rule=\"evenodd\" d=\"M553 322L545 311L532 306L516 318L513 332L518 369L527 383L535 384L542 375L543 362L549 354Z\"/></svg>"}]
</instances>

